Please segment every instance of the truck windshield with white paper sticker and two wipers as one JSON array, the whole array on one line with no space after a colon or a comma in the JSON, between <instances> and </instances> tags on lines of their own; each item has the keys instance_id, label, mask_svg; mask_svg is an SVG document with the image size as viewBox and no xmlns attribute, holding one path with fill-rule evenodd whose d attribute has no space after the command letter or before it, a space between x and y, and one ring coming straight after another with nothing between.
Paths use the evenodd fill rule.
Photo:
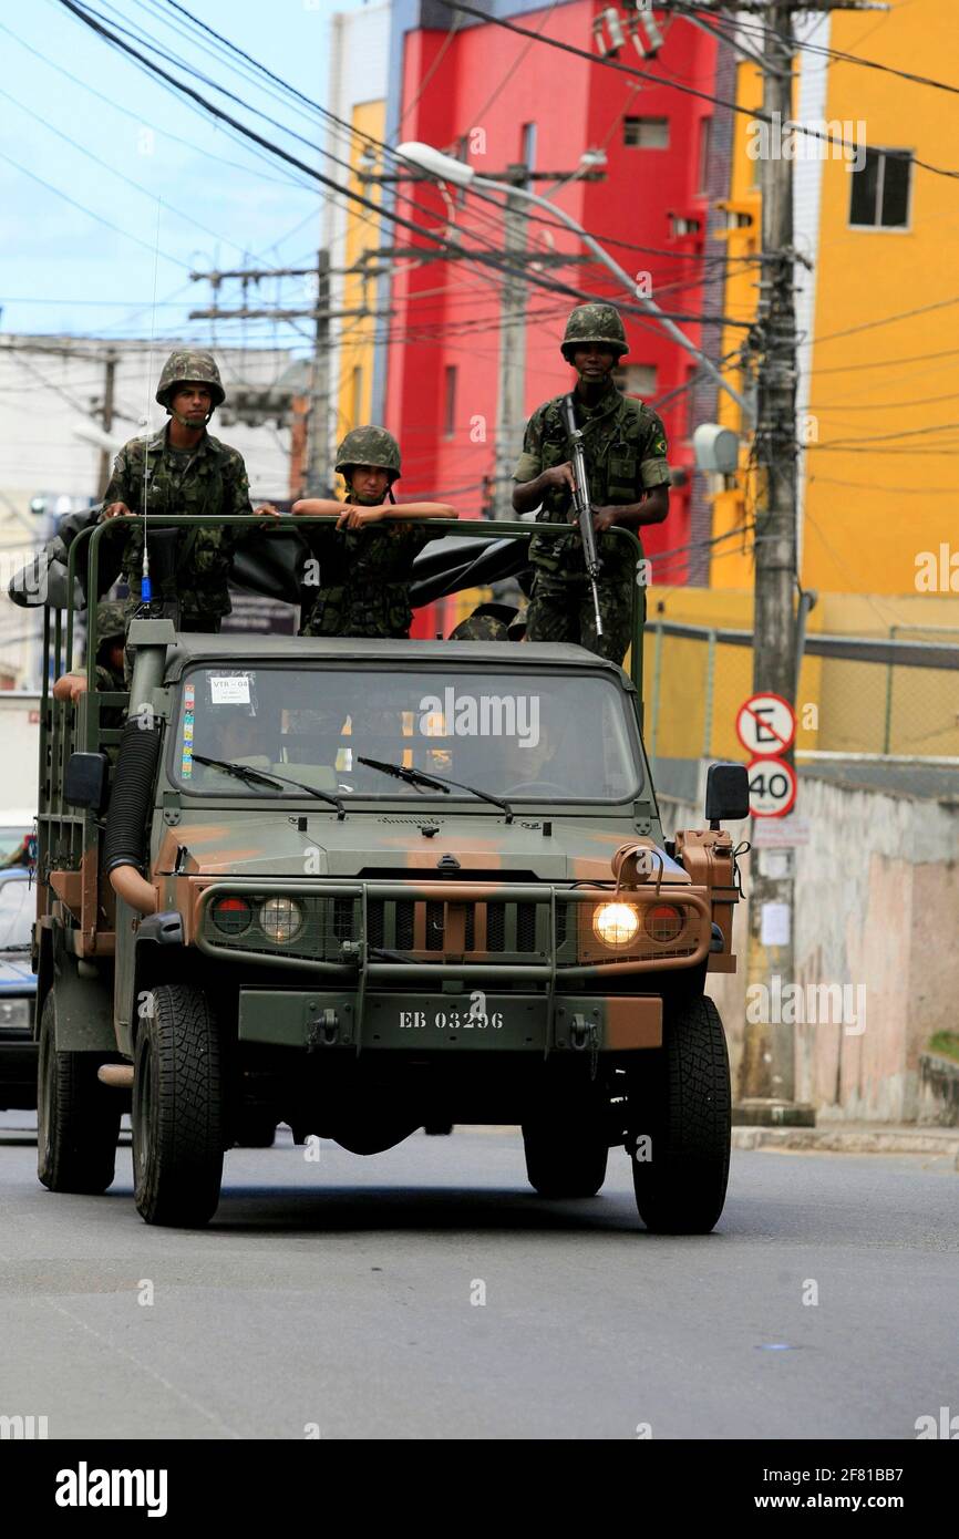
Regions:
<instances>
[{"instance_id":1,"label":"truck windshield with white paper sticker and two wipers","mask_svg":"<svg viewBox=\"0 0 959 1539\"><path fill-rule=\"evenodd\" d=\"M523 671L511 680L465 668L203 666L180 686L171 776L197 794L263 797L202 756L337 796L437 794L362 763L376 759L510 802L623 802L643 783L630 716L623 691L586 673ZM449 793L459 797L473 800Z\"/></svg>"}]
</instances>

